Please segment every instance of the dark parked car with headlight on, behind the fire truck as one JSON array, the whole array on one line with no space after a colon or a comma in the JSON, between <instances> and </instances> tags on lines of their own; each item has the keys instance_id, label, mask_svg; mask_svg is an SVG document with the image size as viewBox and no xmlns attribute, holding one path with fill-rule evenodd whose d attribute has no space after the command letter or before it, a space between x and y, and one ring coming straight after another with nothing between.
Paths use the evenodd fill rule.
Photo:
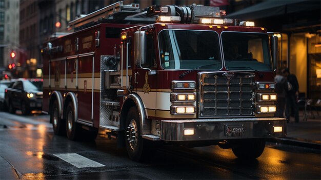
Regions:
<instances>
[{"instance_id":1,"label":"dark parked car with headlight on, behind the fire truck","mask_svg":"<svg viewBox=\"0 0 321 180\"><path fill-rule=\"evenodd\" d=\"M6 88L5 99L10 113L21 109L23 114L29 114L43 107L43 92L27 79L18 79Z\"/></svg>"}]
</instances>

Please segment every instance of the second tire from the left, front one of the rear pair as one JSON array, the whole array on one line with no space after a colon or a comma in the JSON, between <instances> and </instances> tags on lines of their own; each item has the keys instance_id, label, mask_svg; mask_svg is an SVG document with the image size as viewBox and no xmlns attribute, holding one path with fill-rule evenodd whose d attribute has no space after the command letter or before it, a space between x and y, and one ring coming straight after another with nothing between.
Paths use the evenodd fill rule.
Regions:
<instances>
[{"instance_id":1,"label":"second tire from the left, front one of the rear pair","mask_svg":"<svg viewBox=\"0 0 321 180\"><path fill-rule=\"evenodd\" d=\"M72 103L70 102L67 106L66 111L66 132L68 139L75 141L79 139L82 132L82 127L78 123L75 122L75 116L74 116L74 107Z\"/></svg>"}]
</instances>

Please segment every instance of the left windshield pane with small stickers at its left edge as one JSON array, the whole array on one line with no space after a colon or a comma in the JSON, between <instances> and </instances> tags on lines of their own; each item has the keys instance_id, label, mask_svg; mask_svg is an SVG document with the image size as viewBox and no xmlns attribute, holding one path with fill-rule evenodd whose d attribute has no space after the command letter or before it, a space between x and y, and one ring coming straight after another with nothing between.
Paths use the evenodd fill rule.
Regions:
<instances>
[{"instance_id":1,"label":"left windshield pane with small stickers at its left edge","mask_svg":"<svg viewBox=\"0 0 321 180\"><path fill-rule=\"evenodd\" d=\"M158 35L164 69L222 68L218 34L214 31L164 30Z\"/></svg>"}]
</instances>

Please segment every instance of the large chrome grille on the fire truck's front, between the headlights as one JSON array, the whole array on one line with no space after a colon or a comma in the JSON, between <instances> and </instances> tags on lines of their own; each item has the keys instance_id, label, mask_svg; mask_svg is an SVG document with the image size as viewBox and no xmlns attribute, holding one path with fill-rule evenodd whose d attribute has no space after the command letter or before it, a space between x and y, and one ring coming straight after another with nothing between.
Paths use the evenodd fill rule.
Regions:
<instances>
[{"instance_id":1,"label":"large chrome grille on the fire truck's front, between the headlights","mask_svg":"<svg viewBox=\"0 0 321 180\"><path fill-rule=\"evenodd\" d=\"M198 116L253 116L254 74L199 73ZM232 76L231 75L231 76Z\"/></svg>"}]
</instances>

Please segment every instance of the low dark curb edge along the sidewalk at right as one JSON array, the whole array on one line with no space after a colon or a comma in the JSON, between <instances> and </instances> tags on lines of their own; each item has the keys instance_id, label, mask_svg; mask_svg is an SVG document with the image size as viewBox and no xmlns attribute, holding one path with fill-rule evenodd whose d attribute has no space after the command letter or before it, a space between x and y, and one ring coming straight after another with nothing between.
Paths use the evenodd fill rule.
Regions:
<instances>
[{"instance_id":1,"label":"low dark curb edge along the sidewalk at right","mask_svg":"<svg viewBox=\"0 0 321 180\"><path fill-rule=\"evenodd\" d=\"M282 137L275 137L275 138L268 138L268 142L273 142L273 143L281 143L281 144L286 144L286 145L294 145L294 146L302 146L306 148L313 148L313 149L321 149L321 144L320 142L317 141L310 141L307 139L299 139L299 138L282 138Z\"/></svg>"}]
</instances>

